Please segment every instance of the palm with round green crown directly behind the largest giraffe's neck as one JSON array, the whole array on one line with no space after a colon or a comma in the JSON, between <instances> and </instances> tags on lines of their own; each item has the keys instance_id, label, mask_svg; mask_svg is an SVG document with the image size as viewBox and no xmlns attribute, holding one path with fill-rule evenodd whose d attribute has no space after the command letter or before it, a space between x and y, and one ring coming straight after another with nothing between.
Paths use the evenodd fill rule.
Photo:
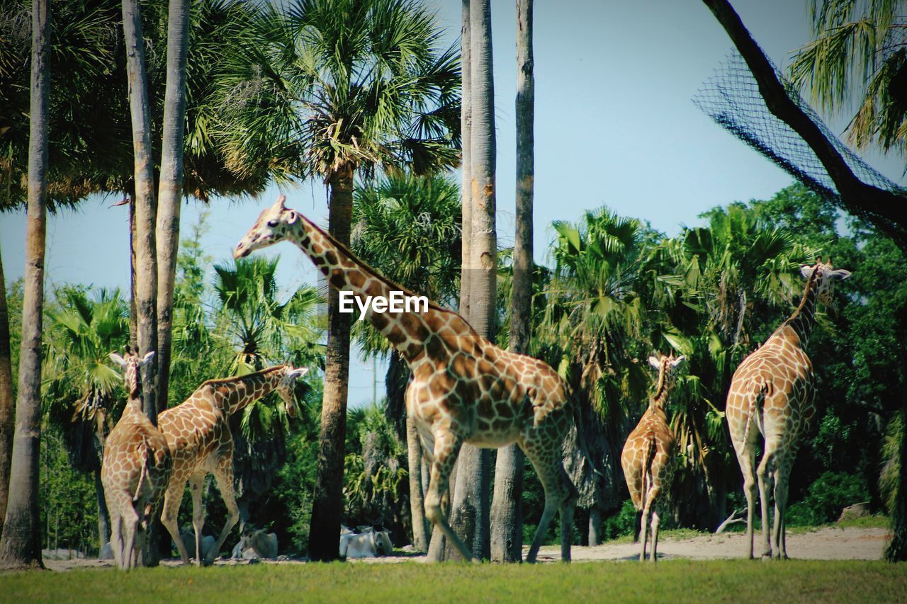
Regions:
<instances>
[{"instance_id":1,"label":"palm with round green crown directly behind the largest giraffe's neck","mask_svg":"<svg viewBox=\"0 0 907 604\"><path fill-rule=\"evenodd\" d=\"M356 191L352 249L387 278L444 305L458 295L461 232L459 190L444 177L401 174ZM409 456L409 500L413 544L428 548L424 518L422 453L415 424L405 417L404 394L409 370L387 339L370 325L356 323L354 335L366 354L390 354L385 411L397 434L405 434ZM405 420L404 420L405 417Z\"/></svg>"}]
</instances>

